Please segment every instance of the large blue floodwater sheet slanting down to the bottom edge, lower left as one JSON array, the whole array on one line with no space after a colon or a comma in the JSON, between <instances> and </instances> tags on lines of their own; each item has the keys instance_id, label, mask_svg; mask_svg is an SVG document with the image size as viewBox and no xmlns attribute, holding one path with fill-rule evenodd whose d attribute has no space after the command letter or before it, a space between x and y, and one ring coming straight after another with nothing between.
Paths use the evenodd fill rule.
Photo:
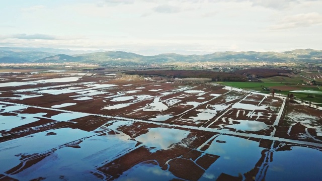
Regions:
<instances>
[{"instance_id":1,"label":"large blue floodwater sheet slanting down to the bottom edge, lower left","mask_svg":"<svg viewBox=\"0 0 322 181\"><path fill-rule=\"evenodd\" d=\"M84 136L88 135L84 134ZM79 136L79 138L84 136ZM121 134L93 136L84 139L78 144L79 148L60 148L37 164L18 173L17 177L30 180L43 176L52 180L59 180L59 175L64 175L65 179L70 180L100 180L91 173L91 170L94 171L93 168L97 163L104 160L111 161L117 155L133 148L137 142L129 138L128 135Z\"/></svg>"}]
</instances>

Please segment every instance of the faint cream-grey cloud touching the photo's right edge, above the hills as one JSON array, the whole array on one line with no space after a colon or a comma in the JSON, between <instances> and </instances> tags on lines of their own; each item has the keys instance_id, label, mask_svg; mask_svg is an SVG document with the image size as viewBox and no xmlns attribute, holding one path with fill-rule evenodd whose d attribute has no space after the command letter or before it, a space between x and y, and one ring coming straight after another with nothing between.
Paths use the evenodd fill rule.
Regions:
<instances>
[{"instance_id":1,"label":"faint cream-grey cloud touching the photo's right edge, above the hills","mask_svg":"<svg viewBox=\"0 0 322 181\"><path fill-rule=\"evenodd\" d=\"M322 23L322 15L318 13L298 14L282 18L277 25L272 26L273 30L310 27Z\"/></svg>"}]
</instances>

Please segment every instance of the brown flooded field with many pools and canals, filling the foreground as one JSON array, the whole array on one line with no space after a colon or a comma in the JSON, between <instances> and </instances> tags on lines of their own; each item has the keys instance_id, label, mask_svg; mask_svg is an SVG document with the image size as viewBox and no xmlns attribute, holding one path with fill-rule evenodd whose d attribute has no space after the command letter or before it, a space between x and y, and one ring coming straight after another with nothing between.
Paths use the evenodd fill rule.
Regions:
<instances>
[{"instance_id":1,"label":"brown flooded field with many pools and canals, filling the foreground","mask_svg":"<svg viewBox=\"0 0 322 181\"><path fill-rule=\"evenodd\" d=\"M320 180L322 111L218 84L0 74L0 180Z\"/></svg>"}]
</instances>

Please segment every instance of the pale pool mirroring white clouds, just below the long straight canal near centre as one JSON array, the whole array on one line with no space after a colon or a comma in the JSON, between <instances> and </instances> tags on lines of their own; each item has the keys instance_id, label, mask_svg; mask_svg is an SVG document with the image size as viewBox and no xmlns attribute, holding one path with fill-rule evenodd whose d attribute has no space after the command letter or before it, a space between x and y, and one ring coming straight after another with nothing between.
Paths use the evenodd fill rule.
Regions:
<instances>
[{"instance_id":1,"label":"pale pool mirroring white clouds, just below the long straight canal near centre","mask_svg":"<svg viewBox=\"0 0 322 181\"><path fill-rule=\"evenodd\" d=\"M143 145L150 147L150 152L160 149L170 149L170 146L180 143L190 132L170 128L151 128L143 135L135 138L136 141L143 142Z\"/></svg>"}]
</instances>

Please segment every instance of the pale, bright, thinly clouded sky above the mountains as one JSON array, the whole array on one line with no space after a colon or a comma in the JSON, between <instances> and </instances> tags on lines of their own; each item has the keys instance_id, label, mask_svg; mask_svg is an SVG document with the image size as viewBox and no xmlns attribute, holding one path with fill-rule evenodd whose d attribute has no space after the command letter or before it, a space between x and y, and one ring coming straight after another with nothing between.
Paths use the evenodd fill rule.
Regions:
<instances>
[{"instance_id":1,"label":"pale, bright, thinly clouded sky above the mountains","mask_svg":"<svg viewBox=\"0 0 322 181\"><path fill-rule=\"evenodd\" d=\"M0 46L205 54L322 49L319 0L0 1Z\"/></svg>"}]
</instances>

